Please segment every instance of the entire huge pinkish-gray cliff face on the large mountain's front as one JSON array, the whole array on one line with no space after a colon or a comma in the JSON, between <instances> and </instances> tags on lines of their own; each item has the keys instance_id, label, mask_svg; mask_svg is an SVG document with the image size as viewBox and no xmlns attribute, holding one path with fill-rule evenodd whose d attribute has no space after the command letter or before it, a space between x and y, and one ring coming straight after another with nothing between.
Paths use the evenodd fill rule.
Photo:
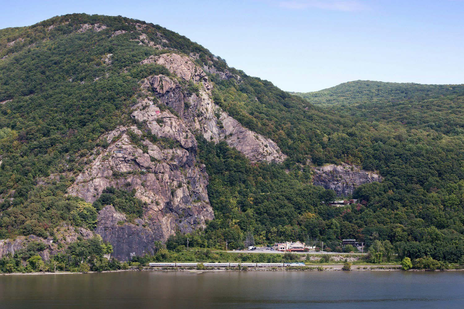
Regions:
<instances>
[{"instance_id":1,"label":"entire huge pinkish-gray cliff face on the large mountain's front","mask_svg":"<svg viewBox=\"0 0 464 309\"><path fill-rule=\"evenodd\" d=\"M87 30L97 31L83 25L82 31ZM143 33L138 41L161 49ZM106 65L111 65L110 57L105 57ZM149 63L165 66L169 76L152 75L140 81L137 103L130 112L137 126L119 126L104 134L100 139L109 146L94 151L98 155L88 158L90 163L69 188L69 194L86 202L115 187L132 190L146 203L143 215L132 222L110 205L98 213L95 233L110 241L113 256L120 260L153 253L155 241L205 227L207 220L214 219L206 191L208 175L205 166L196 162L195 134L214 142L225 140L252 162L286 158L271 139L246 129L213 102L213 86L193 56L166 53L139 64ZM232 77L213 65L205 69L223 79Z\"/></svg>"}]
</instances>

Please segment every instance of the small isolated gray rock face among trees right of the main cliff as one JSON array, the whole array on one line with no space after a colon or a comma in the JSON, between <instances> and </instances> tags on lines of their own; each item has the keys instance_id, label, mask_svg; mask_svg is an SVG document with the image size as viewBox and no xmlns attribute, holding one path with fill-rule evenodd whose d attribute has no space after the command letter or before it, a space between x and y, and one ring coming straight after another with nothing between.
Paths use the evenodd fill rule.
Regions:
<instances>
[{"instance_id":1,"label":"small isolated gray rock face among trees right of the main cliff","mask_svg":"<svg viewBox=\"0 0 464 309\"><path fill-rule=\"evenodd\" d=\"M325 189L332 189L337 197L353 194L354 189L363 183L380 182L380 175L367 170L360 170L354 165L330 164L315 168L313 184Z\"/></svg>"}]
</instances>

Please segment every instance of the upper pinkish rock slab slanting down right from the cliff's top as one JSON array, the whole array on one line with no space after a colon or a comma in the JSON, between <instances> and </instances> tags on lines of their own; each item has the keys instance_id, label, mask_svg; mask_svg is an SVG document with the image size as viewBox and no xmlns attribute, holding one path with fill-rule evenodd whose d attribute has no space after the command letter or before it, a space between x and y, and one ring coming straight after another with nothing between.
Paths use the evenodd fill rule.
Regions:
<instances>
[{"instance_id":1,"label":"upper pinkish rock slab slanting down right from the cliff's top","mask_svg":"<svg viewBox=\"0 0 464 309\"><path fill-rule=\"evenodd\" d=\"M181 84L167 76L150 76L142 82L142 88L152 91L162 103L173 107L190 130L202 132L207 140L214 142L226 140L252 162L284 161L286 156L276 143L246 129L213 102L208 77L189 57L162 54L140 62L142 65L147 63L163 65L181 80L198 85L196 93L185 95Z\"/></svg>"}]
</instances>

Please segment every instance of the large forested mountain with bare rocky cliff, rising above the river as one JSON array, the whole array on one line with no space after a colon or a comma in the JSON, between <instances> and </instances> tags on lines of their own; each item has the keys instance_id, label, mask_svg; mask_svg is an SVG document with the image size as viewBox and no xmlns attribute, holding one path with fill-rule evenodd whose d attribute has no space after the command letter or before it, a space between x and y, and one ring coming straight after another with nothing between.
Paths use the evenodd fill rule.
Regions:
<instances>
[{"instance_id":1,"label":"large forested mountain with bare rocky cliff, rising above the river","mask_svg":"<svg viewBox=\"0 0 464 309\"><path fill-rule=\"evenodd\" d=\"M388 240L400 256L449 262L464 254L459 87L411 95L436 100L436 122L456 115L454 131L392 122L395 107L374 120L121 16L0 30L0 58L0 257L66 256L60 267L71 269L92 252L124 261L161 243L182 250L187 237L236 249L247 233L333 247ZM359 203L329 206L337 196Z\"/></svg>"}]
</instances>

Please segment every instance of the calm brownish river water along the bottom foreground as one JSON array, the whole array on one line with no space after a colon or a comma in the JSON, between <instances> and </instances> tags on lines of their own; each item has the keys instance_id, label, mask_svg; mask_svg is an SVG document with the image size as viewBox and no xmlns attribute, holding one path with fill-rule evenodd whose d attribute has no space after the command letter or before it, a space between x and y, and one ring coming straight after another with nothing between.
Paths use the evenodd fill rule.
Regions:
<instances>
[{"instance_id":1,"label":"calm brownish river water along the bottom foreground","mask_svg":"<svg viewBox=\"0 0 464 309\"><path fill-rule=\"evenodd\" d=\"M0 275L0 308L464 308L464 272Z\"/></svg>"}]
</instances>

